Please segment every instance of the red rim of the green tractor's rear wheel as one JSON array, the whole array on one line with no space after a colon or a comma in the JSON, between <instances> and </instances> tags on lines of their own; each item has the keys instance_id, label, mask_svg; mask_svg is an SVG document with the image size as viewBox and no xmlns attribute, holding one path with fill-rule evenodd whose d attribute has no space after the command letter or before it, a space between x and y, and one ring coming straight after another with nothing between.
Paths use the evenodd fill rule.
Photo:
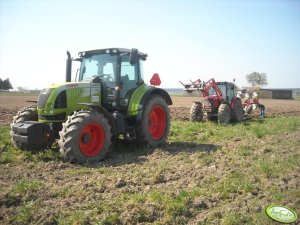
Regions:
<instances>
[{"instance_id":1,"label":"red rim of the green tractor's rear wheel","mask_svg":"<svg viewBox=\"0 0 300 225\"><path fill-rule=\"evenodd\" d=\"M149 134L154 140L159 140L167 126L166 112L161 106L154 106L149 115Z\"/></svg>"}]
</instances>

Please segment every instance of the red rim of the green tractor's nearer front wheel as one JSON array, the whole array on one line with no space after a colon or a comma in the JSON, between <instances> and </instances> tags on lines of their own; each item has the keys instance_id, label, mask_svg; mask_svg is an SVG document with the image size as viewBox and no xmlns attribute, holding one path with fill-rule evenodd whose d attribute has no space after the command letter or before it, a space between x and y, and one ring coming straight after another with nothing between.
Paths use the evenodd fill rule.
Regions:
<instances>
[{"instance_id":1,"label":"red rim of the green tractor's nearer front wheel","mask_svg":"<svg viewBox=\"0 0 300 225\"><path fill-rule=\"evenodd\" d=\"M85 156L96 156L104 146L105 132L98 123L88 123L80 133L79 148Z\"/></svg>"}]
</instances>

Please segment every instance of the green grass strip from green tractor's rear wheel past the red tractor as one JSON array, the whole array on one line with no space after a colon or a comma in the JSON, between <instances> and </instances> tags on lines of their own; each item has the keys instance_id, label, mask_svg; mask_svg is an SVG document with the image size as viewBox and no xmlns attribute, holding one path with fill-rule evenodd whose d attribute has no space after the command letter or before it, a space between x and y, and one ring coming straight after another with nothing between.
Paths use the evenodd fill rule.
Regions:
<instances>
[{"instance_id":1,"label":"green grass strip from green tractor's rear wheel past the red tractor","mask_svg":"<svg viewBox=\"0 0 300 225\"><path fill-rule=\"evenodd\" d=\"M226 141L236 137L242 139L263 138L266 135L278 135L300 129L299 117L276 117L265 120L249 120L242 123L222 126L213 122L172 123L169 141L177 140L194 143Z\"/></svg>"}]
</instances>

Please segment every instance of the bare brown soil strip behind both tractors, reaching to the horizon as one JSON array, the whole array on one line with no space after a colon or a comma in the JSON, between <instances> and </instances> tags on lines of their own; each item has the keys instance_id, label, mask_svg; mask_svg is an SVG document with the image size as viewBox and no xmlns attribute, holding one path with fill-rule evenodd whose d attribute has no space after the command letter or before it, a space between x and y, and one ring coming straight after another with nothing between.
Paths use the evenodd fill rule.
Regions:
<instances>
[{"instance_id":1,"label":"bare brown soil strip behind both tractors, reaching to the horizon","mask_svg":"<svg viewBox=\"0 0 300 225\"><path fill-rule=\"evenodd\" d=\"M10 124L12 117L19 109L33 103L26 101L36 101L37 96L1 96L0 95L0 125ZM170 107L171 119L179 121L189 120L189 110L193 101L202 100L200 97L179 97L172 96L173 105ZM262 104L266 106L266 116L297 116L300 115L300 101L262 99Z\"/></svg>"}]
</instances>

